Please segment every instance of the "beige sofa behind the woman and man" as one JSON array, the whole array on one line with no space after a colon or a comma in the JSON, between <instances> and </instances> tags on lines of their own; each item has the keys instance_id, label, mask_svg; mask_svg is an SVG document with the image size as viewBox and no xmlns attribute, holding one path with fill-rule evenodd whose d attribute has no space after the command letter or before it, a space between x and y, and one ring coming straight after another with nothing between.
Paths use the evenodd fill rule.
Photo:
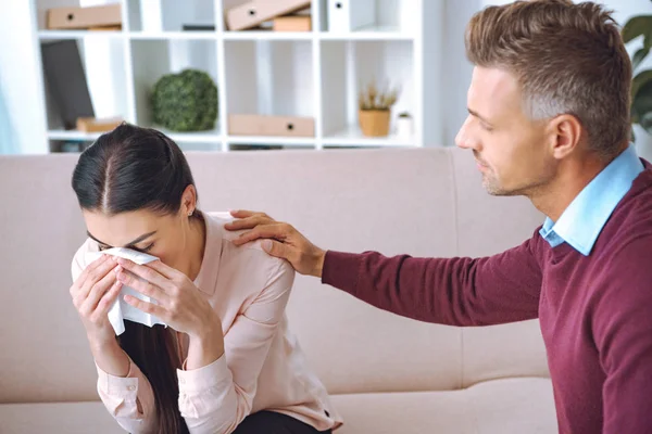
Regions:
<instances>
[{"instance_id":1,"label":"beige sofa behind the woman and man","mask_svg":"<svg viewBox=\"0 0 652 434\"><path fill-rule=\"evenodd\" d=\"M253 208L316 244L387 255L488 255L542 221L488 196L459 150L190 153L206 210ZM98 401L70 261L85 238L75 155L0 157L0 433L120 433ZM346 419L341 434L556 432L537 321L408 320L300 277L288 310Z\"/></svg>"}]
</instances>

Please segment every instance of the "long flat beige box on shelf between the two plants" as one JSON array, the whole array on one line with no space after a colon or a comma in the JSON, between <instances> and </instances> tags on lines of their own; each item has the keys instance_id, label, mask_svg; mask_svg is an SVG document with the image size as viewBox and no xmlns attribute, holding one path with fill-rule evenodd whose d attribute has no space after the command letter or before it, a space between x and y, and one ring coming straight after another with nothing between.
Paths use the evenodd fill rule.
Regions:
<instances>
[{"instance_id":1,"label":"long flat beige box on shelf between the two plants","mask_svg":"<svg viewBox=\"0 0 652 434\"><path fill-rule=\"evenodd\" d=\"M268 116L256 114L228 115L231 136L314 137L315 119L299 116Z\"/></svg>"}]
</instances>

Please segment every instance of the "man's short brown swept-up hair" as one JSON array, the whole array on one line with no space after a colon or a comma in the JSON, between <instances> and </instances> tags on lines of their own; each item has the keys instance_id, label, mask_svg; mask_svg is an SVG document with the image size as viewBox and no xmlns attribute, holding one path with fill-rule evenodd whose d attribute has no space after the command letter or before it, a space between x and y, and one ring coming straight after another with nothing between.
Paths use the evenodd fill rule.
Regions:
<instances>
[{"instance_id":1,"label":"man's short brown swept-up hair","mask_svg":"<svg viewBox=\"0 0 652 434\"><path fill-rule=\"evenodd\" d=\"M610 159L630 139L631 62L613 11L593 2L516 1L476 13L466 55L513 74L532 119L572 114Z\"/></svg>"}]
</instances>

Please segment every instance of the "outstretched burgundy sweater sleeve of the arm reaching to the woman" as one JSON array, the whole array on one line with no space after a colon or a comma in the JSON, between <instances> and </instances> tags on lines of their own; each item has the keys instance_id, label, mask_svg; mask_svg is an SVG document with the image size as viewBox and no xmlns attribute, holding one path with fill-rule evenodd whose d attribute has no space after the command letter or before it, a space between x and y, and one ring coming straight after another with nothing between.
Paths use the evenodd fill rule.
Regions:
<instances>
[{"instance_id":1,"label":"outstretched burgundy sweater sleeve of the arm reaching to the woman","mask_svg":"<svg viewBox=\"0 0 652 434\"><path fill-rule=\"evenodd\" d=\"M538 317L538 232L517 247L484 258L386 257L327 252L323 283L380 309L448 326L487 326Z\"/></svg>"}]
</instances>

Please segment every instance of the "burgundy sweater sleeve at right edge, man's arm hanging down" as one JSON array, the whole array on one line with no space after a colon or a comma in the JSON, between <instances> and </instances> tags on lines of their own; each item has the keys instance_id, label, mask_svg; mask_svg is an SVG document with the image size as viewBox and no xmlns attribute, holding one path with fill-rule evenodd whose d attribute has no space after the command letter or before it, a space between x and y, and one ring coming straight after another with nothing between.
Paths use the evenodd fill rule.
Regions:
<instances>
[{"instance_id":1,"label":"burgundy sweater sleeve at right edge, man's arm hanging down","mask_svg":"<svg viewBox=\"0 0 652 434\"><path fill-rule=\"evenodd\" d=\"M600 363L604 434L652 432L652 237L623 246L591 319Z\"/></svg>"}]
</instances>

